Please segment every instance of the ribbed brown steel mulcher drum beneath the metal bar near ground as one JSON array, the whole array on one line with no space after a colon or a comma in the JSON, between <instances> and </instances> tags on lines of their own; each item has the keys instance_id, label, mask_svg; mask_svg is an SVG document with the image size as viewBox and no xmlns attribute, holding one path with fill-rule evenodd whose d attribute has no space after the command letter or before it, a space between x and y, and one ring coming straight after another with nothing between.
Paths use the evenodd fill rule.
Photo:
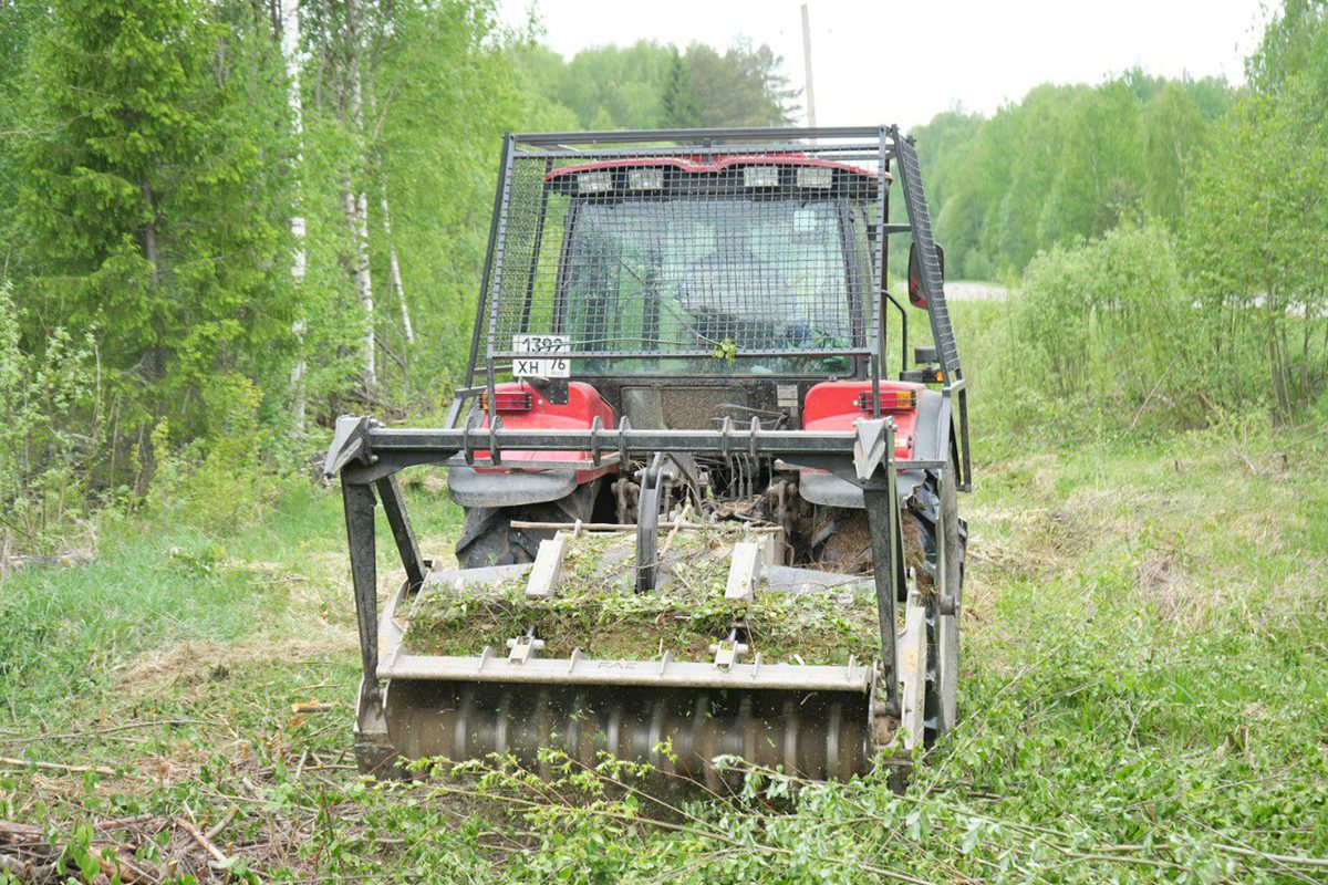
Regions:
<instances>
[{"instance_id":1,"label":"ribbed brown steel mulcher drum beneath the metal bar near ground","mask_svg":"<svg viewBox=\"0 0 1328 885\"><path fill-rule=\"evenodd\" d=\"M645 762L718 789L720 756L814 780L870 767L862 691L641 689L612 685L393 681L388 735L409 759L491 754L550 775L540 750L575 767ZM546 755L546 759L548 756Z\"/></svg>"}]
</instances>

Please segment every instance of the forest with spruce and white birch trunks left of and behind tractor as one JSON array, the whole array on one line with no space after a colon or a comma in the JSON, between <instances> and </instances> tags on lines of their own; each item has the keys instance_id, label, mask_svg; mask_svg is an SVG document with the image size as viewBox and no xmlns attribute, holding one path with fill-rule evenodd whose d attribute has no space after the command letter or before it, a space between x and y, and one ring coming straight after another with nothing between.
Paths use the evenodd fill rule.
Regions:
<instances>
[{"instance_id":1,"label":"forest with spruce and white birch trunks left of and behind tractor","mask_svg":"<svg viewBox=\"0 0 1328 885\"><path fill-rule=\"evenodd\" d=\"M788 122L778 70L741 42L564 61L491 0L0 3L4 539L441 407L502 133Z\"/></svg>"}]
</instances>

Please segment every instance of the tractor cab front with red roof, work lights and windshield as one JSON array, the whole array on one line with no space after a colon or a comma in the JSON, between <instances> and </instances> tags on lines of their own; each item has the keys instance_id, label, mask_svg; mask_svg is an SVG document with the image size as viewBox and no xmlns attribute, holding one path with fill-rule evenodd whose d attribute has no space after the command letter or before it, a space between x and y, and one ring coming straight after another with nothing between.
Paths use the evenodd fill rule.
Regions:
<instances>
[{"instance_id":1,"label":"tractor cab front with red roof, work lights and windshield","mask_svg":"<svg viewBox=\"0 0 1328 885\"><path fill-rule=\"evenodd\" d=\"M875 172L738 154L580 163L547 182L567 199L555 325L576 350L616 352L574 369L826 377L863 368L846 352L866 346Z\"/></svg>"}]
</instances>

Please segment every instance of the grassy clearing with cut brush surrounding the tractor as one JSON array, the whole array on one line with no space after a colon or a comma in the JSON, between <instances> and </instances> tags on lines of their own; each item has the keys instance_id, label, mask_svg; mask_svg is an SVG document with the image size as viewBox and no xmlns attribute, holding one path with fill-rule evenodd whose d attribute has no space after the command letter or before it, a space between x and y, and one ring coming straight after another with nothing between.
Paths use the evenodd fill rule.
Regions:
<instances>
[{"instance_id":1,"label":"grassy clearing with cut brush surrounding the tractor","mask_svg":"<svg viewBox=\"0 0 1328 885\"><path fill-rule=\"evenodd\" d=\"M301 486L230 532L108 523L92 564L0 585L0 865L61 858L33 881L1325 881L1325 447L1260 421L1064 451L979 439L961 722L903 795L757 779L660 808L578 775L361 782L339 496ZM449 555L458 512L408 494L426 555ZM215 829L227 862L208 866L190 827Z\"/></svg>"}]
</instances>

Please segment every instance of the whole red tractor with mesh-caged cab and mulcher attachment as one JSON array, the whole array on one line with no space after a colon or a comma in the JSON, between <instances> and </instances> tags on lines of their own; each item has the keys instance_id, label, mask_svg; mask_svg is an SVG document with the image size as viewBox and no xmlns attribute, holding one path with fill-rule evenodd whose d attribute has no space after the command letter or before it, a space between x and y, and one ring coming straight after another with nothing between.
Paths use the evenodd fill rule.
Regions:
<instances>
[{"instance_id":1,"label":"whole red tractor with mesh-caged cab and mulcher attachment","mask_svg":"<svg viewBox=\"0 0 1328 885\"><path fill-rule=\"evenodd\" d=\"M930 320L912 354L895 235ZM898 127L509 135L448 426L344 417L327 458L361 771L829 779L943 735L971 476L942 273ZM458 568L416 543L396 474L417 464L449 468ZM381 613L380 504L405 568Z\"/></svg>"}]
</instances>

